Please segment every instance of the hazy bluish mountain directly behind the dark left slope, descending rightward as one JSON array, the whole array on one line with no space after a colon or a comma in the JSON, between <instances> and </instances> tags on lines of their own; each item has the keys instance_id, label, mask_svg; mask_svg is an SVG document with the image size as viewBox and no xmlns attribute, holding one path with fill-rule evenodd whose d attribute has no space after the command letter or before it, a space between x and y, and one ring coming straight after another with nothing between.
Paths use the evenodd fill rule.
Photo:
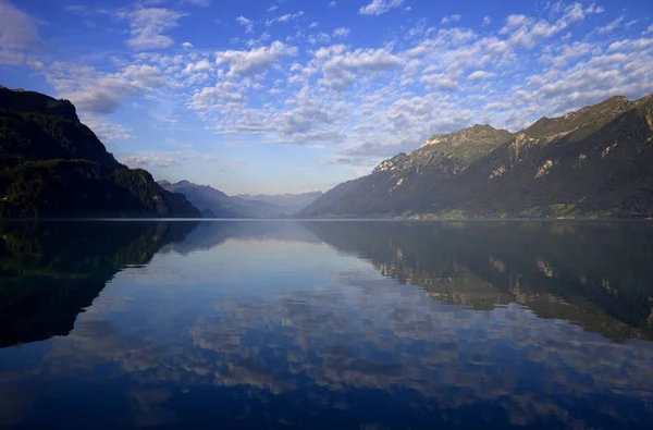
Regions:
<instances>
[{"instance_id":1,"label":"hazy bluish mountain directly behind the dark left slope, descending rightward","mask_svg":"<svg viewBox=\"0 0 653 430\"><path fill-rule=\"evenodd\" d=\"M183 194L205 216L211 218L274 218L283 212L281 208L266 201L230 197L209 185L197 185L188 181L174 184L159 181L159 185L169 192Z\"/></svg>"}]
</instances>

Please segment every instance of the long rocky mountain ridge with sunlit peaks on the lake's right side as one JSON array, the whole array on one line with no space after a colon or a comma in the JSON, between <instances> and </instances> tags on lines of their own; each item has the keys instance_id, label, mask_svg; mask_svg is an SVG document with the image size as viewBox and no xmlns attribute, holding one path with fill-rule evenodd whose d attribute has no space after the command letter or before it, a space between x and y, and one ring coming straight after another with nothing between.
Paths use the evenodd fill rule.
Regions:
<instances>
[{"instance_id":1,"label":"long rocky mountain ridge with sunlit peaks on the lake's right side","mask_svg":"<svg viewBox=\"0 0 653 430\"><path fill-rule=\"evenodd\" d=\"M337 185L304 217L653 217L653 95L509 133L435 135Z\"/></svg>"}]
</instances>

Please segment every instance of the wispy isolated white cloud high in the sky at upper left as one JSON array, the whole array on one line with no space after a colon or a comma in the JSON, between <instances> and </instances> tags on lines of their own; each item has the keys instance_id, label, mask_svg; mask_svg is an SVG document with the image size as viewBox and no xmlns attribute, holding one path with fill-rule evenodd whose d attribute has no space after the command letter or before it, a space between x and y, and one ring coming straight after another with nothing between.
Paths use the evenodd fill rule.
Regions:
<instances>
[{"instance_id":1,"label":"wispy isolated white cloud high in the sky at upper left","mask_svg":"<svg viewBox=\"0 0 653 430\"><path fill-rule=\"evenodd\" d=\"M163 8L141 8L121 11L119 16L130 23L132 37L126 44L135 50L162 49L174 44L163 33L177 25L184 14Z\"/></svg>"}]
</instances>

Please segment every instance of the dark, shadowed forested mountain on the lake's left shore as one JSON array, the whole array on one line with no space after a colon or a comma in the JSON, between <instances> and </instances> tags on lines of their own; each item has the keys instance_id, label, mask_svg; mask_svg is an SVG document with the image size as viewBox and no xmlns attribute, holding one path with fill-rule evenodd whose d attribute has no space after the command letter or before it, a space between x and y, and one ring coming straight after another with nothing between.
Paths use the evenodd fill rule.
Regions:
<instances>
[{"instance_id":1,"label":"dark, shadowed forested mountain on the lake's left shore","mask_svg":"<svg viewBox=\"0 0 653 430\"><path fill-rule=\"evenodd\" d=\"M0 86L0 218L199 217L119 163L67 100Z\"/></svg>"}]
</instances>

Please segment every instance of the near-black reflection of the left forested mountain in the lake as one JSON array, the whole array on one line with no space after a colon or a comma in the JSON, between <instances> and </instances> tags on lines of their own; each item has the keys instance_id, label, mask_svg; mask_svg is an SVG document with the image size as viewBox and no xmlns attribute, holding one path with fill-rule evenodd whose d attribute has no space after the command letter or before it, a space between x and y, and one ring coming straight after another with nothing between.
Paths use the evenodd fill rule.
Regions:
<instances>
[{"instance_id":1,"label":"near-black reflection of the left forested mountain in the lake","mask_svg":"<svg viewBox=\"0 0 653 430\"><path fill-rule=\"evenodd\" d=\"M121 268L147 265L197 223L0 224L0 347L66 335Z\"/></svg>"}]
</instances>

